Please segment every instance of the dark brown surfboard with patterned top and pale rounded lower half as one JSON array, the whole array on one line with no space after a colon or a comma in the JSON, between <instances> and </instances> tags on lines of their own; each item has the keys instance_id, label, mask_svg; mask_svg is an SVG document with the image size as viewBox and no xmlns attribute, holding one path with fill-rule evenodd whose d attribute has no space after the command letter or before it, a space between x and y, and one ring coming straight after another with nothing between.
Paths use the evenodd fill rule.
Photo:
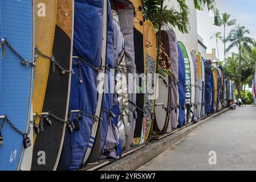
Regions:
<instances>
[{"instance_id":1,"label":"dark brown surfboard with patterned top and pale rounded lower half","mask_svg":"<svg viewBox=\"0 0 256 182\"><path fill-rule=\"evenodd\" d=\"M157 32L158 41L160 34L159 69L170 71L170 42L166 31ZM154 127L157 134L165 134L169 126L170 109L170 78L168 75L159 75L156 82L156 101Z\"/></svg>"}]
</instances>

